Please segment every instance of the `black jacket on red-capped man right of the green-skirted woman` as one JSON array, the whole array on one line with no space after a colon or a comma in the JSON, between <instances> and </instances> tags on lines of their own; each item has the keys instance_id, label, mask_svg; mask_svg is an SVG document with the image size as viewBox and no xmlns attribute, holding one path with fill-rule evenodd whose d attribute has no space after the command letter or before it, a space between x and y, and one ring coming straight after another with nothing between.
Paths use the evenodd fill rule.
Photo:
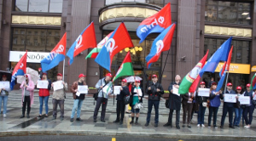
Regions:
<instances>
[{"instance_id":1,"label":"black jacket on red-capped man right of the green-skirted woman","mask_svg":"<svg viewBox=\"0 0 256 141\"><path fill-rule=\"evenodd\" d=\"M148 87L151 87L151 90L148 90ZM146 91L148 93L148 100L160 101L160 97L164 94L164 89L159 82L149 82ZM159 88L160 92L157 92L156 89Z\"/></svg>"}]
</instances>

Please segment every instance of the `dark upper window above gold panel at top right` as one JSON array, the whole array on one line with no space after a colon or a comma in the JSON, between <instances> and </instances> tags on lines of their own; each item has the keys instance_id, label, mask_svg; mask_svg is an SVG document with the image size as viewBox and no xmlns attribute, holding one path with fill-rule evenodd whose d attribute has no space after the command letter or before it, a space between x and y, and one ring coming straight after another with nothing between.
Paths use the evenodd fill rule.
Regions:
<instances>
[{"instance_id":1,"label":"dark upper window above gold panel at top right","mask_svg":"<svg viewBox=\"0 0 256 141\"><path fill-rule=\"evenodd\" d=\"M205 20L208 22L251 25L251 3L206 0Z\"/></svg>"}]
</instances>

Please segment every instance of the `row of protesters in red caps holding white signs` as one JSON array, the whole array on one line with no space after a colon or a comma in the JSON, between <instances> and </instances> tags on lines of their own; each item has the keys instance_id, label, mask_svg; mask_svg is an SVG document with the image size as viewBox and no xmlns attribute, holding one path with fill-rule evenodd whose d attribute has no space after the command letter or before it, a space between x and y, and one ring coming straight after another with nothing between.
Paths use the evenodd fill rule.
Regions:
<instances>
[{"instance_id":1,"label":"row of protesters in red caps holding white signs","mask_svg":"<svg viewBox=\"0 0 256 141\"><path fill-rule=\"evenodd\" d=\"M27 118L30 118L30 110L31 105L33 104L33 91L35 84L32 82L32 78L29 74L25 75L26 79L24 82L21 83L20 88L22 89L22 115L20 118L25 117L25 112ZM47 73L41 73L40 77L44 81L48 81L48 87L47 88L39 88L39 102L40 102L40 108L39 108L39 116L38 118L42 117L43 112L43 106L45 106L45 115L44 117L48 117L48 101L49 101L49 90L53 89L54 83L52 83L47 78ZM2 76L2 81L7 81L7 77L5 75ZM57 117L57 106L61 109L61 116L60 119L63 121L64 119L64 100L66 99L66 91L67 91L67 82L62 81L62 74L58 73L57 81L61 81L63 84L63 88L54 90L52 95L52 104L53 104L53 117L52 119L55 120ZM111 93L113 93L113 87L110 83L112 79L112 74L108 73L104 78L100 79L96 83L96 89L98 90L96 93L96 107L94 110L93 115L93 121L97 121L97 115L98 110L102 106L101 111L101 121L105 122L105 114L106 109L108 105L108 98ZM154 127L158 127L159 123L159 105L161 96L164 94L164 89L161 86L160 82L158 82L158 76L153 75L151 76L152 81L148 83L148 86L146 87L146 92L148 95L148 113L146 118L145 127L149 126L150 117L151 117L151 111L154 106L155 116L154 116ZM86 85L84 82L85 76L84 74L79 75L79 80L76 82L73 82L72 87L70 87L71 92L73 93L73 110L72 114L70 116L70 121L74 121L75 111L77 111L76 121L83 121L80 117L81 113L81 107L83 105L84 99L85 99L85 93L79 93L78 87L79 85L83 86ZM169 117L167 123L164 125L164 127L172 127L172 115L173 111L176 111L176 128L179 129L179 123L180 123L180 110L181 106L183 106L183 127L191 128L191 119L193 117L193 113L197 112L197 127L205 127L204 125L204 117L205 117L205 111L209 110L208 115L208 127L211 127L212 125L212 114L213 114L213 127L217 127L217 114L218 114L218 107L221 104L221 99L224 99L224 93L220 91L216 91L217 83L211 82L210 83L210 93L209 97L201 97L198 94L198 91L195 93L186 93L186 94L176 94L173 93L173 87L179 88L179 85L181 83L181 77L175 76L175 81L171 82L170 86L168 87L168 90L170 92L169 99L166 100L166 107L170 109ZM104 88L108 87L108 91L104 90ZM205 82L200 83L201 88L206 87ZM244 105L239 104L239 101L237 100L236 103L228 103L224 102L223 105L223 113L222 118L220 122L220 128L224 127L224 120L227 113L229 113L229 127L235 128L239 127L241 116L246 122L246 128L250 127L253 121L253 110L255 107L256 100L255 93L256 89L253 91L250 91L250 84L247 84L247 89L245 92L241 92L242 88L240 86L236 87L236 91L232 89L232 83L227 84L227 89L225 93L230 94L236 94L236 98L238 99L240 96L249 96L251 101L250 104ZM0 110L2 106L3 101L3 117L6 116L6 109L7 109L7 100L9 95L10 89L0 89L1 95L0 95ZM78 94L79 93L79 94ZM140 81L135 80L134 84L131 87L127 86L127 81L123 79L121 81L121 87L120 87L120 93L117 94L117 104L116 104L116 120L113 121L115 123L123 124L124 116L125 116L125 104L130 104L131 106L131 122L130 124L137 124L138 118L140 116L140 109L142 108L141 104L143 103L143 97L144 94L143 88L140 87ZM233 114L235 112L235 118L233 119ZM247 116L249 114L249 117Z\"/></svg>"}]
</instances>

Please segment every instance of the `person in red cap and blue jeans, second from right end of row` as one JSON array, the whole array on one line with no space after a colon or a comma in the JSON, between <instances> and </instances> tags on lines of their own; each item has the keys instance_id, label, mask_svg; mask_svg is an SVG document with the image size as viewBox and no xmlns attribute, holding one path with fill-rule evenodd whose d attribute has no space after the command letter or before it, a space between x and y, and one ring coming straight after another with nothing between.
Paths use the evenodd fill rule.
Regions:
<instances>
[{"instance_id":1,"label":"person in red cap and blue jeans, second from right end of row","mask_svg":"<svg viewBox=\"0 0 256 141\"><path fill-rule=\"evenodd\" d=\"M235 104L235 118L234 118L234 126L235 127L239 127L239 123L241 121L241 114L242 114L242 111L243 111L243 106L245 105L242 105L240 104L240 102L238 101L238 98L241 96L241 87L240 86L237 86L236 87L236 93L237 93L237 99L236 99L236 104Z\"/></svg>"}]
</instances>

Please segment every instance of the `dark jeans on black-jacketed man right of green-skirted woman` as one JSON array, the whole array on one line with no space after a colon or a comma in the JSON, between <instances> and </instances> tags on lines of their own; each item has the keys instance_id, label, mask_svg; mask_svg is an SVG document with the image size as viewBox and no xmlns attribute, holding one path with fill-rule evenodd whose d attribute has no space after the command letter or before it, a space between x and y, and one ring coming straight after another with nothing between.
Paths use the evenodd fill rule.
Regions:
<instances>
[{"instance_id":1,"label":"dark jeans on black-jacketed man right of green-skirted woman","mask_svg":"<svg viewBox=\"0 0 256 141\"><path fill-rule=\"evenodd\" d=\"M150 121L150 116L151 116L151 111L152 111L153 105L154 105L154 111L155 111L154 123L158 123L158 121L159 121L159 104L160 104L160 101L148 100L148 116L147 116L148 123Z\"/></svg>"}]
</instances>

